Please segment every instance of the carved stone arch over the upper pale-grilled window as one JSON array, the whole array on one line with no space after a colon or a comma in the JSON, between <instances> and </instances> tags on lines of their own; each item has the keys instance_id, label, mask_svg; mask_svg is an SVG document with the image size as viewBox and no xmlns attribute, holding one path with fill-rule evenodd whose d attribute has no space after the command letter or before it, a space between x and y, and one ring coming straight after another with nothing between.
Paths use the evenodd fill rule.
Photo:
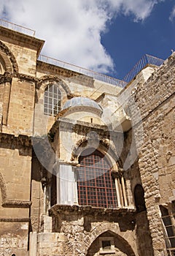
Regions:
<instances>
[{"instance_id":1,"label":"carved stone arch over the upper pale-grilled window","mask_svg":"<svg viewBox=\"0 0 175 256\"><path fill-rule=\"evenodd\" d=\"M60 78L54 75L44 75L42 78L39 78L39 81L37 83L37 89L42 88L43 91L50 83L59 83L61 86L61 89L66 92L67 97L71 97L71 90L69 89L69 86L63 82Z\"/></svg>"}]
</instances>

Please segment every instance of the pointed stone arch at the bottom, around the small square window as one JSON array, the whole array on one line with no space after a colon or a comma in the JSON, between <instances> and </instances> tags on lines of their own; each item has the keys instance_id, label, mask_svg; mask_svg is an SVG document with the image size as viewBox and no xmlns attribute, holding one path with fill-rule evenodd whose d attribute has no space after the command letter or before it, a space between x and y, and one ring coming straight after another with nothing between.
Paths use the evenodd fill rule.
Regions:
<instances>
[{"instance_id":1,"label":"pointed stone arch at the bottom, around the small square window","mask_svg":"<svg viewBox=\"0 0 175 256\"><path fill-rule=\"evenodd\" d=\"M109 226L110 226L110 224L109 224ZM114 238L117 238L117 240L120 241L120 243L117 244L116 248L121 249L121 247L123 247L125 255L136 256L135 253L133 252L133 249L132 249L131 245L129 244L129 242L125 238L123 238L123 235L122 235L122 233L120 233L119 228L116 230L115 227L106 227L106 225L104 225L104 226L102 225L100 227L96 227L96 229L93 230L90 235L91 236L90 236L90 239L88 239L86 255L88 255L88 251L90 250L90 247L92 247L93 244L96 243L98 238L100 238L104 235L105 236L110 235Z\"/></svg>"}]
</instances>

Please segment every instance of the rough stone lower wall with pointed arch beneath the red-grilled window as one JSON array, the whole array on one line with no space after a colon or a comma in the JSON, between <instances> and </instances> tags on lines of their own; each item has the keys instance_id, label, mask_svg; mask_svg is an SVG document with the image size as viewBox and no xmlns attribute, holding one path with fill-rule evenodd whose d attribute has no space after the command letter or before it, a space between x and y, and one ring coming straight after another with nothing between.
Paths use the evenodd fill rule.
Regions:
<instances>
[{"instance_id":1,"label":"rough stone lower wall with pointed arch beneath the red-grilled window","mask_svg":"<svg viewBox=\"0 0 175 256\"><path fill-rule=\"evenodd\" d=\"M53 206L53 230L38 234L38 255L95 255L100 249L98 237L112 236L116 247L114 255L138 256L135 217L128 211L126 218L126 212L104 212L88 206Z\"/></svg>"}]
</instances>

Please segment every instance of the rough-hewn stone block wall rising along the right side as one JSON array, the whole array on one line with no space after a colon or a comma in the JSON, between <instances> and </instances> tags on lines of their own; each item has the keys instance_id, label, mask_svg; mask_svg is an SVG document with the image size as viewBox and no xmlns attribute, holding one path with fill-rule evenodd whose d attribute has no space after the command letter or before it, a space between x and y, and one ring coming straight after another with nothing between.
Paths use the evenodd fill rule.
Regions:
<instances>
[{"instance_id":1,"label":"rough-hewn stone block wall rising along the right side","mask_svg":"<svg viewBox=\"0 0 175 256\"><path fill-rule=\"evenodd\" d=\"M174 198L174 58L173 54L137 89L134 101L141 113L139 123L136 108L131 107L135 135L140 137L139 171L155 256L166 255L159 205Z\"/></svg>"}]
</instances>

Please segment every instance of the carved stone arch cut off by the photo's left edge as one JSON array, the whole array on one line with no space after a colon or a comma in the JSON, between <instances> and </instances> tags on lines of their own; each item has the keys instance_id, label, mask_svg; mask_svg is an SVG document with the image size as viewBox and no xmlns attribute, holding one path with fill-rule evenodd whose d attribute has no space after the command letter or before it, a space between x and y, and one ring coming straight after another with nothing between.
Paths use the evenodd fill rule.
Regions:
<instances>
[{"instance_id":1,"label":"carved stone arch cut off by the photo's left edge","mask_svg":"<svg viewBox=\"0 0 175 256\"><path fill-rule=\"evenodd\" d=\"M0 62L5 73L9 75L18 74L18 64L13 53L7 48L4 42L0 41Z\"/></svg>"}]
</instances>

